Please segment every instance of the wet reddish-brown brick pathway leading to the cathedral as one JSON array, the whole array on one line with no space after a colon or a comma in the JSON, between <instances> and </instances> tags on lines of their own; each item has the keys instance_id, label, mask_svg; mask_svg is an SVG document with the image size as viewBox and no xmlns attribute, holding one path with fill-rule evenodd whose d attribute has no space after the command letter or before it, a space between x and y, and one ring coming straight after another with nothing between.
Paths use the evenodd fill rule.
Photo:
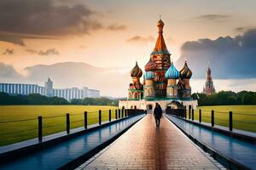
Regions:
<instances>
[{"instance_id":1,"label":"wet reddish-brown brick pathway leading to the cathedral","mask_svg":"<svg viewBox=\"0 0 256 170\"><path fill-rule=\"evenodd\" d=\"M148 114L78 169L218 169L209 156L169 122Z\"/></svg>"}]
</instances>

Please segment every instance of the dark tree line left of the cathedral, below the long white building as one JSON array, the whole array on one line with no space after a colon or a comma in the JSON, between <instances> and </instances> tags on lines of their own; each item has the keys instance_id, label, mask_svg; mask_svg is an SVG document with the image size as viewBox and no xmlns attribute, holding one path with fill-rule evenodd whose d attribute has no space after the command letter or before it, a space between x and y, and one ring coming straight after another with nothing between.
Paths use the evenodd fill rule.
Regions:
<instances>
[{"instance_id":1,"label":"dark tree line left of the cathedral, below the long white building","mask_svg":"<svg viewBox=\"0 0 256 170\"><path fill-rule=\"evenodd\" d=\"M84 98L67 99L59 97L46 97L41 94L9 95L0 92L0 105L118 105L119 99Z\"/></svg>"}]
</instances>

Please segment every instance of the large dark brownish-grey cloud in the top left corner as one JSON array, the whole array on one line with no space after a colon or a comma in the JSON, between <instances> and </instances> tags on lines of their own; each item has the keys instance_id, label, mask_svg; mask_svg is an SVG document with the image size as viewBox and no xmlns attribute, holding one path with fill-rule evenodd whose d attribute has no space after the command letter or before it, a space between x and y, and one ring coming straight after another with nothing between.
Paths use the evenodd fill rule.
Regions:
<instances>
[{"instance_id":1,"label":"large dark brownish-grey cloud in the top left corner","mask_svg":"<svg viewBox=\"0 0 256 170\"><path fill-rule=\"evenodd\" d=\"M101 29L102 24L93 19L96 12L82 3L68 5L54 0L1 0L0 41L24 45L20 35L65 36L89 33ZM14 35L12 35L14 33Z\"/></svg>"}]
</instances>

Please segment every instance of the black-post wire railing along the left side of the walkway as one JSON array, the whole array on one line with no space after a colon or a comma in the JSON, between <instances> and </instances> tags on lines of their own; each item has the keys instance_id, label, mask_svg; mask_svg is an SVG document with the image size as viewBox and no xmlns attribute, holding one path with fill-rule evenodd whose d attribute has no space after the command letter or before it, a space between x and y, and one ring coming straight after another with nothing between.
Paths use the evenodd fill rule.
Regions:
<instances>
[{"instance_id":1,"label":"black-post wire railing along the left side of the walkway","mask_svg":"<svg viewBox=\"0 0 256 170\"><path fill-rule=\"evenodd\" d=\"M67 132L75 127L88 128L90 124L102 125L102 122L112 122L127 116L135 116L143 113L140 110L98 110L84 111L58 116L38 116L38 118L8 120L0 122L0 127L6 128L4 133L0 133L0 145L11 144L25 139L38 137L38 142L42 142L43 137L52 133ZM11 124L11 125L9 125ZM37 133L38 131L38 133Z\"/></svg>"}]
</instances>

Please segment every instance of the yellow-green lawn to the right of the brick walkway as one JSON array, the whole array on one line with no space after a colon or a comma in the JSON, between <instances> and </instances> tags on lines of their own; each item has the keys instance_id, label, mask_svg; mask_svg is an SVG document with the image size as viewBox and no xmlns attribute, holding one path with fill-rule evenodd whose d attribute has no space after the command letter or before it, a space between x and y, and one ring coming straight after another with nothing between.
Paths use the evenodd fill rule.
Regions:
<instances>
[{"instance_id":1,"label":"yellow-green lawn to the right of the brick walkway","mask_svg":"<svg viewBox=\"0 0 256 170\"><path fill-rule=\"evenodd\" d=\"M214 110L215 124L229 127L229 111L233 111L234 128L256 132L256 105L200 106L195 110L195 120L198 120L199 109L202 122L211 122L211 111Z\"/></svg>"}]
</instances>

